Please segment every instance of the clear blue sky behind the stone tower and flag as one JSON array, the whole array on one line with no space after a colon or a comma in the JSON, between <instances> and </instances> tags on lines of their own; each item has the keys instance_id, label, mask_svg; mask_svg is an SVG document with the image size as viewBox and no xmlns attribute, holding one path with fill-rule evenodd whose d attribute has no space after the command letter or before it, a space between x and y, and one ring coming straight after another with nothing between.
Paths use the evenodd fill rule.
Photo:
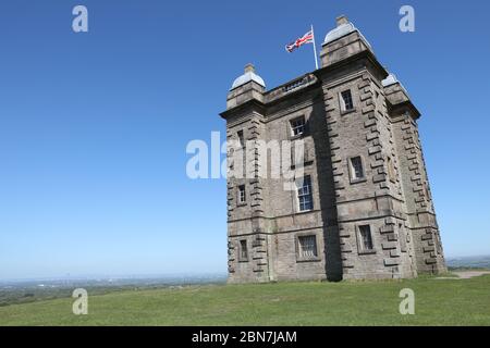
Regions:
<instances>
[{"instance_id":1,"label":"clear blue sky behind the stone tower and flag","mask_svg":"<svg viewBox=\"0 0 490 348\"><path fill-rule=\"evenodd\" d=\"M188 179L186 145L224 130L246 63L268 87L314 70L283 47L340 14L422 113L446 257L490 253L488 1L22 0L0 5L0 278L225 272L225 182Z\"/></svg>"}]
</instances>

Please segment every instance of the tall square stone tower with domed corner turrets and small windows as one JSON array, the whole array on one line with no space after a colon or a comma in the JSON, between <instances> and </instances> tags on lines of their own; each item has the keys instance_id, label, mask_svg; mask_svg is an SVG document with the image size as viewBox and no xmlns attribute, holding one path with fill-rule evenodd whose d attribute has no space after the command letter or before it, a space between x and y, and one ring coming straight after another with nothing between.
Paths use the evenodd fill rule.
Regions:
<instances>
[{"instance_id":1,"label":"tall square stone tower with domed corner turrets and small windows","mask_svg":"<svg viewBox=\"0 0 490 348\"><path fill-rule=\"evenodd\" d=\"M229 282L443 272L418 110L345 16L320 60L269 90L247 65L228 95L229 170L246 167L228 178ZM298 141L301 172L269 148L286 144L294 158ZM268 174L274 157L294 175Z\"/></svg>"}]
</instances>

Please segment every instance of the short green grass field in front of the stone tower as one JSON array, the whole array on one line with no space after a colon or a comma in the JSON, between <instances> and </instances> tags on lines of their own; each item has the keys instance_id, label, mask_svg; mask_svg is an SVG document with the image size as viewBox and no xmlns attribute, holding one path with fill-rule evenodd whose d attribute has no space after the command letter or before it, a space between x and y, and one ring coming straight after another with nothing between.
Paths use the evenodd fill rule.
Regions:
<instances>
[{"instance_id":1,"label":"short green grass field in front of the stone tower","mask_svg":"<svg viewBox=\"0 0 490 348\"><path fill-rule=\"evenodd\" d=\"M415 314L399 312L415 291ZM469 279L189 286L0 308L0 325L490 325L490 275Z\"/></svg>"}]
</instances>

